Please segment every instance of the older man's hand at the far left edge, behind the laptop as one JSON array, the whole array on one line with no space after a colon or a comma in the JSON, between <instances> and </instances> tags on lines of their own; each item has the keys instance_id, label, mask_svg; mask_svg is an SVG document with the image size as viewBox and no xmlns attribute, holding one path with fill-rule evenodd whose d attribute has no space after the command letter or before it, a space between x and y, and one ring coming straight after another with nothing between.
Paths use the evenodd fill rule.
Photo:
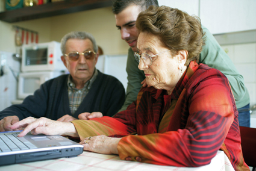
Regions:
<instances>
[{"instance_id":1,"label":"older man's hand at the far left edge, behind the laptop","mask_svg":"<svg viewBox=\"0 0 256 171\"><path fill-rule=\"evenodd\" d=\"M19 117L17 116L7 116L0 120L0 132L4 131L16 131L19 129L11 129L10 126L14 123L19 122ZM22 128L20 128L22 129Z\"/></svg>"}]
</instances>

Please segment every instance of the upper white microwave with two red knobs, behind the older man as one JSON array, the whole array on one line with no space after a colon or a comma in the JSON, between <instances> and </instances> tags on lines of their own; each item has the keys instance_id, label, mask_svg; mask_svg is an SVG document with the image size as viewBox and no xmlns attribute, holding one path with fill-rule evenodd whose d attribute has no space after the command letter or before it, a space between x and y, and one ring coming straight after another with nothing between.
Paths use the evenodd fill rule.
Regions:
<instances>
[{"instance_id":1,"label":"upper white microwave with two red knobs, behind the older man","mask_svg":"<svg viewBox=\"0 0 256 171\"><path fill-rule=\"evenodd\" d=\"M22 46L22 72L65 70L59 42L31 43Z\"/></svg>"}]
</instances>

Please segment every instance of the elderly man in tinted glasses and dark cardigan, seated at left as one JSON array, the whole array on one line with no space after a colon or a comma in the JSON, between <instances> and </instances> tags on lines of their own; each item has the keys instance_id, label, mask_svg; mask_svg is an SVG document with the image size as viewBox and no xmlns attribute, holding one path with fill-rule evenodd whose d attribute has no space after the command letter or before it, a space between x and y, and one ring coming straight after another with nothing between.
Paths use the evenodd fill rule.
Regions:
<instances>
[{"instance_id":1,"label":"elderly man in tinted glasses and dark cardigan, seated at left","mask_svg":"<svg viewBox=\"0 0 256 171\"><path fill-rule=\"evenodd\" d=\"M61 60L70 74L46 81L22 104L0 112L0 131L28 116L69 122L112 116L125 101L122 83L95 68L98 46L92 34L71 32L61 39ZM95 111L95 113L92 113Z\"/></svg>"}]
</instances>

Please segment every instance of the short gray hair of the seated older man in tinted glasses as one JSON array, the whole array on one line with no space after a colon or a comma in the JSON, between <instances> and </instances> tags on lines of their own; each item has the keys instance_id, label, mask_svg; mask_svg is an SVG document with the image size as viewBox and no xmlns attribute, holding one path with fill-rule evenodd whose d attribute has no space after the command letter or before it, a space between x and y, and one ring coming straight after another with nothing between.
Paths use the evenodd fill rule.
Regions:
<instances>
[{"instance_id":1,"label":"short gray hair of the seated older man in tinted glasses","mask_svg":"<svg viewBox=\"0 0 256 171\"><path fill-rule=\"evenodd\" d=\"M86 40L89 39L92 42L93 45L93 51L98 52L98 46L96 44L95 38L92 36L92 34L86 32L86 31L72 31L70 33L67 33L64 37L62 37L60 43L61 52L64 55L66 53L66 42L69 39L80 39L80 40Z\"/></svg>"}]
</instances>

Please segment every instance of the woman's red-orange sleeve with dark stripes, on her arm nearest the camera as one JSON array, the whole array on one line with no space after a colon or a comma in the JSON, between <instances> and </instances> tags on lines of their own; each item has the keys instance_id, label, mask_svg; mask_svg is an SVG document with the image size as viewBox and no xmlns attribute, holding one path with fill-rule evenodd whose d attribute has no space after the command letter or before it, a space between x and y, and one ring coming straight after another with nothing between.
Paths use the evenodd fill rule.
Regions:
<instances>
[{"instance_id":1,"label":"woman's red-orange sleeve with dark stripes, on her arm nearest the camera","mask_svg":"<svg viewBox=\"0 0 256 171\"><path fill-rule=\"evenodd\" d=\"M163 134L123 137L117 146L121 160L131 157L136 161L136 157L140 157L143 163L179 167L210 163L234 120L234 99L228 81L214 76L183 91L181 96L184 94L189 99L189 108L180 109L189 110L187 119L183 118L187 120L185 128L167 130ZM174 115L171 122L175 122Z\"/></svg>"}]
</instances>

